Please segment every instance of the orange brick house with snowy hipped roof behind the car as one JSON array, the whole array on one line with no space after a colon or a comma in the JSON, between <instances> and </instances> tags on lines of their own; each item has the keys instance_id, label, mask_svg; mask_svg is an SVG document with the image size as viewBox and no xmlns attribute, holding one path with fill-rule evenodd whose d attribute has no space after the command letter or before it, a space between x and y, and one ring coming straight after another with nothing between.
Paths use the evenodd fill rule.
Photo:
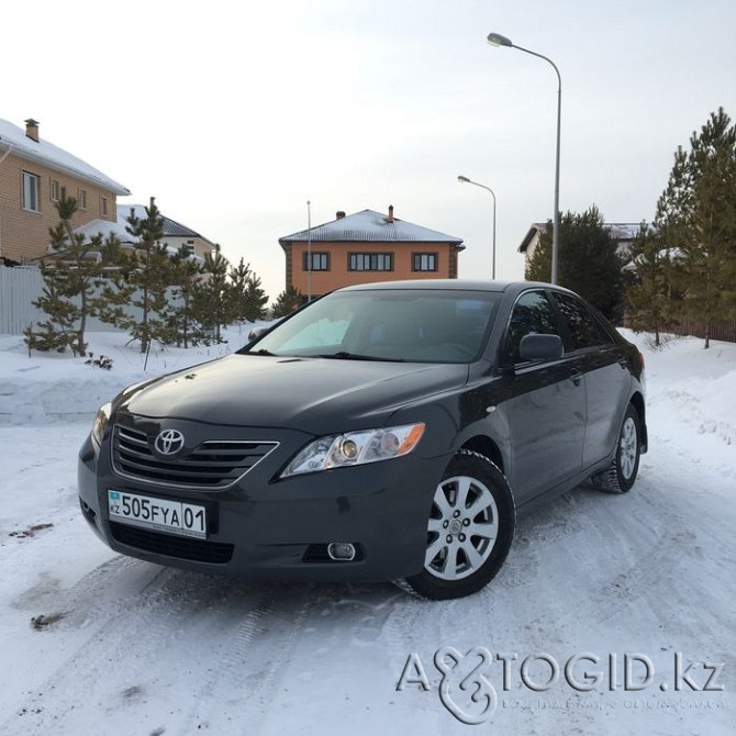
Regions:
<instances>
[{"instance_id":1,"label":"orange brick house with snowy hipped roof behind the car","mask_svg":"<svg viewBox=\"0 0 736 736\"><path fill-rule=\"evenodd\" d=\"M287 289L317 297L339 287L402 279L456 279L459 237L363 210L279 238Z\"/></svg>"}]
</instances>

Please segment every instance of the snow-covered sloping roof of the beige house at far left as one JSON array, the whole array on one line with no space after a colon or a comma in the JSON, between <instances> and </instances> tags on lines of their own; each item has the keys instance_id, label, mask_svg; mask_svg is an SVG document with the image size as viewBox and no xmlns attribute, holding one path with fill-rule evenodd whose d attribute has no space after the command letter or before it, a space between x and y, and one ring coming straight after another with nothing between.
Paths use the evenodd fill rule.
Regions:
<instances>
[{"instance_id":1,"label":"snow-covered sloping roof of the beige house at far left","mask_svg":"<svg viewBox=\"0 0 736 736\"><path fill-rule=\"evenodd\" d=\"M123 185L118 183L102 174L102 171L82 161L81 158L73 156L53 143L48 143L48 141L34 141L30 138L24 130L7 120L0 120L0 149L3 150L3 154L5 150L11 149L16 156L48 166L62 174L89 181L113 192L113 194L125 197L131 193Z\"/></svg>"}]
</instances>

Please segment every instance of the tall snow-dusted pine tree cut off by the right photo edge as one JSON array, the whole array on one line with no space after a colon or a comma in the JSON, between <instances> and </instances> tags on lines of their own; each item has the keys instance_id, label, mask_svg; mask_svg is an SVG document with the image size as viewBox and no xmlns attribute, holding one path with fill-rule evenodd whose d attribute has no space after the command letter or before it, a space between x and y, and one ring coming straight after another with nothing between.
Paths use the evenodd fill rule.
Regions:
<instances>
[{"instance_id":1,"label":"tall snow-dusted pine tree cut off by the right photo edge","mask_svg":"<svg viewBox=\"0 0 736 736\"><path fill-rule=\"evenodd\" d=\"M705 325L736 314L736 127L723 108L679 147L655 224L672 250L680 311Z\"/></svg>"}]
</instances>

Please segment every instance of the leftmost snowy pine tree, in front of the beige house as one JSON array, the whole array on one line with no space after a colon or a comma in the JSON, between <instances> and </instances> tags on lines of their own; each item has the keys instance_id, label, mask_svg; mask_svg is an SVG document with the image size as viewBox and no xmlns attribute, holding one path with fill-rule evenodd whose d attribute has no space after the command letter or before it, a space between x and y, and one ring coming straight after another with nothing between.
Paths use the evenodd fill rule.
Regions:
<instances>
[{"instance_id":1,"label":"leftmost snowy pine tree, in front of the beige house","mask_svg":"<svg viewBox=\"0 0 736 736\"><path fill-rule=\"evenodd\" d=\"M83 355L87 320L103 309L99 289L104 277L120 266L120 242L113 235L103 239L101 233L87 237L75 232L71 219L77 200L64 187L56 211L59 222L48 231L55 257L41 261L45 286L42 297L33 302L48 319L38 330L26 330L25 342L30 349L63 353L70 348L75 355Z\"/></svg>"}]
</instances>

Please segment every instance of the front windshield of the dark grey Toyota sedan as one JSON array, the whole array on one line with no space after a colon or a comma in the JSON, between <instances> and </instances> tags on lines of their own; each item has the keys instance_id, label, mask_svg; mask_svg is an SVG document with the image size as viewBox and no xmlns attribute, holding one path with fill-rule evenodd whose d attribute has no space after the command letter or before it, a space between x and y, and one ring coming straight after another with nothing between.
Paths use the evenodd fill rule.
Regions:
<instances>
[{"instance_id":1,"label":"front windshield of the dark grey Toyota sedan","mask_svg":"<svg viewBox=\"0 0 736 736\"><path fill-rule=\"evenodd\" d=\"M411 363L471 363L501 294L377 289L328 294L239 350L242 354Z\"/></svg>"}]
</instances>

